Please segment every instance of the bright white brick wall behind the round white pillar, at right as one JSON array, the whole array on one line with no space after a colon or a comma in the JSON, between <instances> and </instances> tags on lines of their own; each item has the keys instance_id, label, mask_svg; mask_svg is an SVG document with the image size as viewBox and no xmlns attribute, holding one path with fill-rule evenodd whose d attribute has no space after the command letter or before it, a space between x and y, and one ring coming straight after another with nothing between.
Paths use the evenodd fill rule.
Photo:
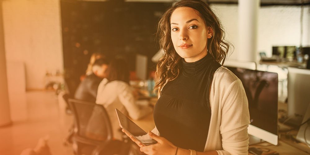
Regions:
<instances>
[{"instance_id":1,"label":"bright white brick wall behind the round white pillar, at right","mask_svg":"<svg viewBox=\"0 0 310 155\"><path fill-rule=\"evenodd\" d=\"M227 40L235 46L231 59L238 57L238 6L211 5L222 21ZM303 11L303 46L310 45L310 7ZM259 9L257 52L272 55L272 46L300 45L300 6L272 6ZM259 57L258 57L259 58Z\"/></svg>"}]
</instances>

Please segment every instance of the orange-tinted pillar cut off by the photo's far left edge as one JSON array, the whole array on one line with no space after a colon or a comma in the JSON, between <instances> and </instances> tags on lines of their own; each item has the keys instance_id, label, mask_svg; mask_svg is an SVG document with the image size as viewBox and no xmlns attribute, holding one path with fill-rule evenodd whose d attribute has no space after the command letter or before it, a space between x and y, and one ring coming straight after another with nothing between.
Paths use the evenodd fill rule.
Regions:
<instances>
[{"instance_id":1,"label":"orange-tinted pillar cut off by the photo's far left edge","mask_svg":"<svg viewBox=\"0 0 310 155\"><path fill-rule=\"evenodd\" d=\"M7 65L4 48L2 2L0 2L0 126L11 123L9 93L7 88Z\"/></svg>"}]
</instances>

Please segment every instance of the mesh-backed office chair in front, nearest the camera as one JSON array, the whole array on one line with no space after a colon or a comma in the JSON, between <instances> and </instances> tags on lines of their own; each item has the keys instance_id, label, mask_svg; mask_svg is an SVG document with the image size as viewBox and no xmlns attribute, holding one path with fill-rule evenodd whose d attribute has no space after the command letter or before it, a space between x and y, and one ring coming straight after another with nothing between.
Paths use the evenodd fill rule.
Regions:
<instances>
[{"instance_id":1,"label":"mesh-backed office chair in front, nearest the camera","mask_svg":"<svg viewBox=\"0 0 310 155\"><path fill-rule=\"evenodd\" d=\"M69 99L74 115L73 153L127 155L130 143L114 140L108 113L102 105Z\"/></svg>"}]
</instances>

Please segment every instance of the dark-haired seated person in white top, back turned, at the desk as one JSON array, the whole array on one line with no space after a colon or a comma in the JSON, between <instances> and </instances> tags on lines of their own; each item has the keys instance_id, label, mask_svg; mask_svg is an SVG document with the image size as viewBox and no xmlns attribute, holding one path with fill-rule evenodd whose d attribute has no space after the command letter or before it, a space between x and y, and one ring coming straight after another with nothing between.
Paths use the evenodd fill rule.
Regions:
<instances>
[{"instance_id":1,"label":"dark-haired seated person in white top, back turned, at the desk","mask_svg":"<svg viewBox=\"0 0 310 155\"><path fill-rule=\"evenodd\" d=\"M109 64L104 78L98 87L96 104L102 104L106 109L112 125L113 137L122 139L122 132L115 113L115 108L131 119L137 120L148 114L153 109L149 106L139 106L129 86L129 69L125 60L115 59Z\"/></svg>"}]
</instances>

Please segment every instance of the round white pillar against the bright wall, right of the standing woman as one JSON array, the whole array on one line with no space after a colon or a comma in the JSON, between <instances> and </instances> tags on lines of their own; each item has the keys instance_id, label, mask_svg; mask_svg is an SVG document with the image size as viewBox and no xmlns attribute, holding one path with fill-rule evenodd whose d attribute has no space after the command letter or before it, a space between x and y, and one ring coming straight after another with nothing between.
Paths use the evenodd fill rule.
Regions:
<instances>
[{"instance_id":1,"label":"round white pillar against the bright wall, right of the standing woman","mask_svg":"<svg viewBox=\"0 0 310 155\"><path fill-rule=\"evenodd\" d=\"M238 0L239 60L255 61L260 0Z\"/></svg>"}]
</instances>

